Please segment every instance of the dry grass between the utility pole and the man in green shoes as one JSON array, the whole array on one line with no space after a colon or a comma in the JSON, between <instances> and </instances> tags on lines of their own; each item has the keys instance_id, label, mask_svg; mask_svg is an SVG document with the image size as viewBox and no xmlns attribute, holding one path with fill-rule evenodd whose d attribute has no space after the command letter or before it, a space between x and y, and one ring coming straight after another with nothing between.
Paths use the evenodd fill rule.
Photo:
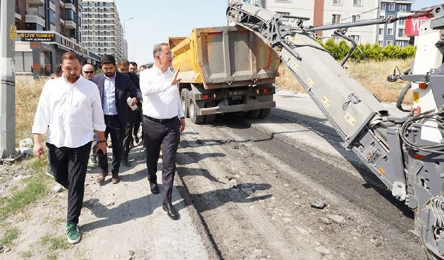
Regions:
<instances>
[{"instance_id":1,"label":"dry grass between the utility pole and the man in green shoes","mask_svg":"<svg viewBox=\"0 0 444 260\"><path fill-rule=\"evenodd\" d=\"M44 80L17 78L15 81L15 143L32 137L34 114L44 85Z\"/></svg>"}]
</instances>

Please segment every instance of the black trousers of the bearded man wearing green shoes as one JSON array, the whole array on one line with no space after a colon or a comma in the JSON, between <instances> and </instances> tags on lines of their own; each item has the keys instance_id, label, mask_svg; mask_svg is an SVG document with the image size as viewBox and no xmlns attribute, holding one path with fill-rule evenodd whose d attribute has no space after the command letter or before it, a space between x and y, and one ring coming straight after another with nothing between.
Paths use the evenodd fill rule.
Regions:
<instances>
[{"instance_id":1,"label":"black trousers of the bearded man wearing green shoes","mask_svg":"<svg viewBox=\"0 0 444 260\"><path fill-rule=\"evenodd\" d=\"M78 223L85 193L85 177L92 142L78 148L46 143L54 179L68 190L67 223Z\"/></svg>"}]
</instances>

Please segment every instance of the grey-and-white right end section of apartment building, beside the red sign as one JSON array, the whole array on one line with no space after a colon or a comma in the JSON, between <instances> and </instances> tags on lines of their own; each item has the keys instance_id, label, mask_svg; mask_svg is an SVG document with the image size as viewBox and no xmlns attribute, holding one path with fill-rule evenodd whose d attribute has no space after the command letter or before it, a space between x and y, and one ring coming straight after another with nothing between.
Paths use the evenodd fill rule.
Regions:
<instances>
[{"instance_id":1,"label":"grey-and-white right end section of apartment building, beside the red sign","mask_svg":"<svg viewBox=\"0 0 444 260\"><path fill-rule=\"evenodd\" d=\"M379 10L379 17L404 17L411 15L411 5L415 3L415 0L382 0ZM407 46L413 44L413 38L405 35L405 20L396 21L393 24L383 24L378 26L378 38L379 45L398 45Z\"/></svg>"}]
</instances>

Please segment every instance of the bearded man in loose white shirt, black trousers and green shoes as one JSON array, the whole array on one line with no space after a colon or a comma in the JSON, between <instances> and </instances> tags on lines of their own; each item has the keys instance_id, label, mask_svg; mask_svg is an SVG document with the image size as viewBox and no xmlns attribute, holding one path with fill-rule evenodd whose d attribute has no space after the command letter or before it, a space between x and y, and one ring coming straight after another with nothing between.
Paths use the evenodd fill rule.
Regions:
<instances>
[{"instance_id":1,"label":"bearded man in loose white shirt, black trousers and green shoes","mask_svg":"<svg viewBox=\"0 0 444 260\"><path fill-rule=\"evenodd\" d=\"M78 217L85 192L85 177L93 131L99 137L97 150L106 153L105 123L99 89L80 77L80 57L69 51L62 55L62 77L43 87L35 112L34 155L45 149L42 136L48 131L46 146L56 182L68 190L66 235L69 243L80 241Z\"/></svg>"}]
</instances>

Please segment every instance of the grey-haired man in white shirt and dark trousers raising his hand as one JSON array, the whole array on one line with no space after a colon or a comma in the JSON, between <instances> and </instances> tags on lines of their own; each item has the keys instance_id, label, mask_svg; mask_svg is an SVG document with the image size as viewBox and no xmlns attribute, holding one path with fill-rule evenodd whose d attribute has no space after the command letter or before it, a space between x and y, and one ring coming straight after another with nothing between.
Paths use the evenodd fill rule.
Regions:
<instances>
[{"instance_id":1,"label":"grey-haired man in white shirt and dark trousers raising his hand","mask_svg":"<svg viewBox=\"0 0 444 260\"><path fill-rule=\"evenodd\" d=\"M164 184L162 209L176 220L178 212L171 203L173 180L176 173L176 153L180 132L185 130L185 116L180 105L177 84L178 72L169 67L173 60L167 43L157 44L153 50L155 64L151 69L140 73L140 90L144 103L142 121L144 127L144 146L146 148L146 167L151 192L159 193L157 186L157 160L162 145L162 184Z\"/></svg>"}]
</instances>

